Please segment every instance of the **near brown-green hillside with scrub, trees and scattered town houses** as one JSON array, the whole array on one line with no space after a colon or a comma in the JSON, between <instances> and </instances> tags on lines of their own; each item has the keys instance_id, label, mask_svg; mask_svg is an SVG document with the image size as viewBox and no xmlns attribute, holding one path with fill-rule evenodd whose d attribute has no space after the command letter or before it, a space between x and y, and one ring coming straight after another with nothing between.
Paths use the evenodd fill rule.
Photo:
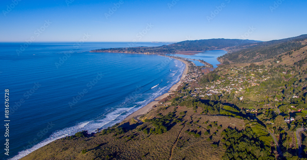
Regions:
<instances>
[{"instance_id":1,"label":"near brown-green hillside with scrub, trees and scattered town houses","mask_svg":"<svg viewBox=\"0 0 307 160\"><path fill-rule=\"evenodd\" d=\"M188 63L188 73L150 112L95 134L58 139L22 159L306 160L307 132L300 129L307 126L304 43L302 35L262 47L228 47L231 53L221 60L229 63L208 74L177 57ZM256 63L227 59L238 50L268 57Z\"/></svg>"}]
</instances>

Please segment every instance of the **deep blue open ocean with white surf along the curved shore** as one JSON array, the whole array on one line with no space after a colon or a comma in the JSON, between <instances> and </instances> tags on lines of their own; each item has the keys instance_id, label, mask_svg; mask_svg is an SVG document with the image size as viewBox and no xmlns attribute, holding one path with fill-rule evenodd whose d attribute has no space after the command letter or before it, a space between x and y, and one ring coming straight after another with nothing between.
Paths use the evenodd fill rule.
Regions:
<instances>
[{"instance_id":1,"label":"deep blue open ocean with white surf along the curved shore","mask_svg":"<svg viewBox=\"0 0 307 160\"><path fill-rule=\"evenodd\" d=\"M180 80L185 64L176 59L89 52L129 46L125 42L0 43L0 89L10 93L9 118L2 118L10 120L10 156L1 157L20 159L53 140L114 125ZM5 143L6 138L0 141Z\"/></svg>"}]
</instances>

